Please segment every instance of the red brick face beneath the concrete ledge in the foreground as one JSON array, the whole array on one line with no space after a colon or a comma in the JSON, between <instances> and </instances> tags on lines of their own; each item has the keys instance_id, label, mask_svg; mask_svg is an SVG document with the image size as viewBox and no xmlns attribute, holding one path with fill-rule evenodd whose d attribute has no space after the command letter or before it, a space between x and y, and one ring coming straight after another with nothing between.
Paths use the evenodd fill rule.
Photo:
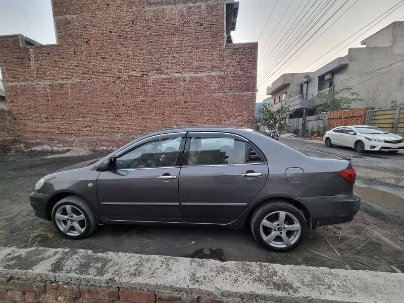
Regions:
<instances>
[{"instance_id":1,"label":"red brick face beneath the concrete ledge in the foreground","mask_svg":"<svg viewBox=\"0 0 404 303\"><path fill-rule=\"evenodd\" d=\"M0 302L28 303L226 303L208 295L189 297L156 290L59 284L0 278Z\"/></svg>"}]
</instances>

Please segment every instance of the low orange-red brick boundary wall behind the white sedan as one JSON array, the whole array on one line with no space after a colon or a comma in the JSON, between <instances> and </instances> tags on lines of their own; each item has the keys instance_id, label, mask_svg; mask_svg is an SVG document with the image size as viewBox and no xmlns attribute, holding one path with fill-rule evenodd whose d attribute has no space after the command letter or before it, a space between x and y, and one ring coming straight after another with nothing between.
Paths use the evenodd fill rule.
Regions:
<instances>
[{"instance_id":1,"label":"low orange-red brick boundary wall behind the white sedan","mask_svg":"<svg viewBox=\"0 0 404 303\"><path fill-rule=\"evenodd\" d=\"M343 125L364 125L368 109L355 109L327 113L327 130Z\"/></svg>"}]
</instances>

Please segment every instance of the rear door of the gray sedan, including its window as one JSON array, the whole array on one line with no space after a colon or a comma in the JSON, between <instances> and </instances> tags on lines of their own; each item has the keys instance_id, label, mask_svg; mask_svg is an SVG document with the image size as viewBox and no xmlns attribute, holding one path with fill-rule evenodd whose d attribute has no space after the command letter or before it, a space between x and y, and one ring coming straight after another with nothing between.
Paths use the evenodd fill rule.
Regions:
<instances>
[{"instance_id":1,"label":"rear door of the gray sedan, including its window","mask_svg":"<svg viewBox=\"0 0 404 303\"><path fill-rule=\"evenodd\" d=\"M179 177L184 221L234 221L258 195L267 177L264 156L245 138L189 132Z\"/></svg>"}]
</instances>

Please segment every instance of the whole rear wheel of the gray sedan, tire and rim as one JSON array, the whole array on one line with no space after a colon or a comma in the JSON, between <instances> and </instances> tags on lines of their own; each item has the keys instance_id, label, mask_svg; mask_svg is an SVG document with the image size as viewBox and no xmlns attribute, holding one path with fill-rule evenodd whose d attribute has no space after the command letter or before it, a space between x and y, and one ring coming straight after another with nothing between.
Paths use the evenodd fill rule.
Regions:
<instances>
[{"instance_id":1,"label":"whole rear wheel of the gray sedan, tire and rim","mask_svg":"<svg viewBox=\"0 0 404 303\"><path fill-rule=\"evenodd\" d=\"M251 215L250 228L259 243L274 251L296 247L307 234L304 215L292 204L282 200L260 205Z\"/></svg>"}]
</instances>

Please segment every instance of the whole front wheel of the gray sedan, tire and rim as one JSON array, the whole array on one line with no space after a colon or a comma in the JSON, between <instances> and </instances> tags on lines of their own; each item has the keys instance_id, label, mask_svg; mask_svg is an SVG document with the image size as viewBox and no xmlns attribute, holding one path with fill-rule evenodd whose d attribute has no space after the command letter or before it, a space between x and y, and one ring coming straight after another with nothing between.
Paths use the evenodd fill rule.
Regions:
<instances>
[{"instance_id":1,"label":"whole front wheel of the gray sedan, tire and rim","mask_svg":"<svg viewBox=\"0 0 404 303\"><path fill-rule=\"evenodd\" d=\"M85 201L75 195L61 199L52 210L56 229L70 239L82 239L94 232L97 218Z\"/></svg>"}]
</instances>

